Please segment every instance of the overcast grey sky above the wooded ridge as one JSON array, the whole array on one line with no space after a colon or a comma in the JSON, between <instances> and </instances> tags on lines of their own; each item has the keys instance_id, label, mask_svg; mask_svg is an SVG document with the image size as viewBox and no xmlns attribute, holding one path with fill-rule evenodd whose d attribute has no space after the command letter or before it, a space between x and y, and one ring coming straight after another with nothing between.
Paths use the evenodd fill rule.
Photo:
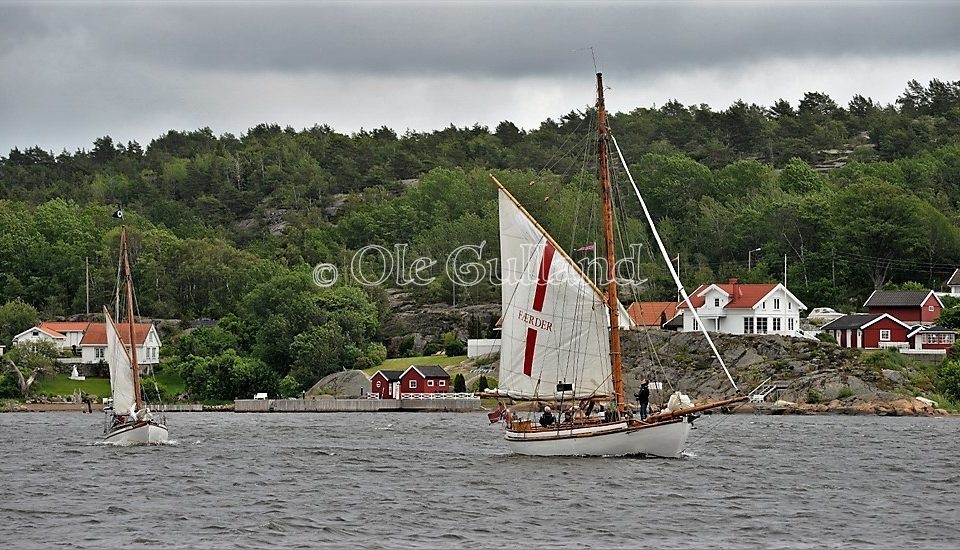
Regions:
<instances>
[{"instance_id":1,"label":"overcast grey sky above the wooded ridge","mask_svg":"<svg viewBox=\"0 0 960 550\"><path fill-rule=\"evenodd\" d=\"M960 2L43 3L0 0L0 156L261 122L532 128L805 91L893 102L960 80Z\"/></svg>"}]
</instances>

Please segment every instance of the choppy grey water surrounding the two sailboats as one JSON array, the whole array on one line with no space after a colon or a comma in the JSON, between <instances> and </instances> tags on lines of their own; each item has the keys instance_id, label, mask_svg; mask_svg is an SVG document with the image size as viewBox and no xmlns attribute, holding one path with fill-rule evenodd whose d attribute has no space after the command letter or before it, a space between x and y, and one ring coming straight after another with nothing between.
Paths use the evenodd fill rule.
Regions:
<instances>
[{"instance_id":1,"label":"choppy grey water surrounding the two sailboats","mask_svg":"<svg viewBox=\"0 0 960 550\"><path fill-rule=\"evenodd\" d=\"M680 460L512 456L483 414L100 420L0 414L5 547L960 547L960 418L704 417Z\"/></svg>"}]
</instances>

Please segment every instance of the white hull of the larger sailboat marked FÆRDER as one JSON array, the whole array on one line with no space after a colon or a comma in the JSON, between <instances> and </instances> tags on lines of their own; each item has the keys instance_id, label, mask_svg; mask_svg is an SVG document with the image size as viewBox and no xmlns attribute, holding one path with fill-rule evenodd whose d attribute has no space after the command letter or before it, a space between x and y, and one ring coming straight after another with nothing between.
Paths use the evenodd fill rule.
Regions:
<instances>
[{"instance_id":1,"label":"white hull of the larger sailboat marked F\u00c6RDER","mask_svg":"<svg viewBox=\"0 0 960 550\"><path fill-rule=\"evenodd\" d=\"M641 427L626 422L557 430L507 431L510 450L530 456L629 456L679 458L687 444L685 419Z\"/></svg>"}]
</instances>

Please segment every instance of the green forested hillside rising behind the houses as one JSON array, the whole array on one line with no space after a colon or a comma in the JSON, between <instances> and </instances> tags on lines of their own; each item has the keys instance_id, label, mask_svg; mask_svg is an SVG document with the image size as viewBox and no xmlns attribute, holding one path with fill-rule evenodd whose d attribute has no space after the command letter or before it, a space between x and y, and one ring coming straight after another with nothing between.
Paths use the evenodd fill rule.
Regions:
<instances>
[{"instance_id":1,"label":"green forested hillside rising behind the houses","mask_svg":"<svg viewBox=\"0 0 960 550\"><path fill-rule=\"evenodd\" d=\"M280 374L298 335L333 325L359 350L345 366L374 360L382 352L368 347L389 315L382 291L321 291L304 282L313 266L337 266L348 284L355 251L408 243L408 261L438 262L424 271L436 280L410 286L414 298L452 302L447 255L485 241L481 261L497 257L489 172L562 244L592 242L594 114L529 131L506 121L403 135L264 124L242 136L170 131L146 147L105 136L72 153L14 149L0 157L0 304L83 312L87 259L92 309L109 303L119 232L110 213L122 207L144 316L232 314L249 352ZM939 290L960 266L960 81L912 81L894 105L807 93L795 105L669 102L609 120L688 285L781 280L786 255L789 286L808 306L852 310L886 285ZM627 244L646 243L635 198L625 190L619 204ZM637 296L668 298L673 286L646 248L636 278L651 283ZM303 301L284 305L287 289ZM485 283L456 289L456 300L499 295ZM308 320L294 313L303 304ZM354 306L370 323L335 313Z\"/></svg>"}]
</instances>

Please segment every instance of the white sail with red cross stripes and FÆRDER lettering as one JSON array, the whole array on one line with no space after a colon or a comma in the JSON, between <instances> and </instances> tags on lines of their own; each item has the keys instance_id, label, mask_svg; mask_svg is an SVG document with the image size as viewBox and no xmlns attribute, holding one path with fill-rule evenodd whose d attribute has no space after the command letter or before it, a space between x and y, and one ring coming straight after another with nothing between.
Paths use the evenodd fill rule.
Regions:
<instances>
[{"instance_id":1,"label":"white sail with red cross stripes and F\u00c6RDER lettering","mask_svg":"<svg viewBox=\"0 0 960 550\"><path fill-rule=\"evenodd\" d=\"M499 195L498 391L518 399L611 395L609 316L602 296L504 189ZM621 324L628 319L624 315Z\"/></svg>"}]
</instances>

